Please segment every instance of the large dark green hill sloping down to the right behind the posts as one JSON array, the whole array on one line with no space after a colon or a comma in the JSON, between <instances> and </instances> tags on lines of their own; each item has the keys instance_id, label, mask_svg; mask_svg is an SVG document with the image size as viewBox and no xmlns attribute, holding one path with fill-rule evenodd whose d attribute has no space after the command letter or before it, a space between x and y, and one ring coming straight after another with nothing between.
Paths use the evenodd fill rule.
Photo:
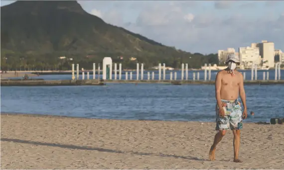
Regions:
<instances>
[{"instance_id":1,"label":"large dark green hill sloping down to the right behind the posts","mask_svg":"<svg viewBox=\"0 0 284 170\"><path fill-rule=\"evenodd\" d=\"M60 56L73 61L59 60ZM16 1L1 7L1 69L68 69L73 62L87 69L105 56L123 68L135 68L137 62L146 68L158 63L180 67L184 62L192 68L217 63L216 55L176 50L110 25L75 0Z\"/></svg>"}]
</instances>

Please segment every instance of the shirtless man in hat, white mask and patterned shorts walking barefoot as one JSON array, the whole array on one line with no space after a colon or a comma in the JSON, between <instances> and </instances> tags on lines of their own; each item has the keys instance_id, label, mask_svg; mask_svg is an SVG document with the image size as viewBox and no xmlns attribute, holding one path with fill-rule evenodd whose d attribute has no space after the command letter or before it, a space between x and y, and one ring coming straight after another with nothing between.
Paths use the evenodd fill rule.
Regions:
<instances>
[{"instance_id":1,"label":"shirtless man in hat, white mask and patterned shorts walking barefoot","mask_svg":"<svg viewBox=\"0 0 284 170\"><path fill-rule=\"evenodd\" d=\"M215 160L215 151L217 144L225 136L230 128L234 134L234 162L241 163L238 158L240 148L240 132L243 127L242 119L247 118L246 94L244 89L243 75L236 69L240 64L239 58L235 55L229 55L225 64L228 66L225 70L217 73L215 79L216 91L216 130L219 131L214 138L214 143L209 152L209 159ZM243 112L239 94L243 102ZM221 108L221 109L220 109Z\"/></svg>"}]
</instances>

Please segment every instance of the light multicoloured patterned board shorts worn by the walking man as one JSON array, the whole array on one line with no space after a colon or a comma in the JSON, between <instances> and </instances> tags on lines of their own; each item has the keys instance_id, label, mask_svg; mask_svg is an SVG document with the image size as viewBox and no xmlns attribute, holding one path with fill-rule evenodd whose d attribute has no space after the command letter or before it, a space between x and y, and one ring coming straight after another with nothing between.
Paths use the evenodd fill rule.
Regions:
<instances>
[{"instance_id":1,"label":"light multicoloured patterned board shorts worn by the walking man","mask_svg":"<svg viewBox=\"0 0 284 170\"><path fill-rule=\"evenodd\" d=\"M225 116L219 116L219 107L216 105L216 128L215 130L239 130L243 128L242 123L242 107L238 103L238 99L236 100L223 100L222 107L225 111Z\"/></svg>"}]
</instances>

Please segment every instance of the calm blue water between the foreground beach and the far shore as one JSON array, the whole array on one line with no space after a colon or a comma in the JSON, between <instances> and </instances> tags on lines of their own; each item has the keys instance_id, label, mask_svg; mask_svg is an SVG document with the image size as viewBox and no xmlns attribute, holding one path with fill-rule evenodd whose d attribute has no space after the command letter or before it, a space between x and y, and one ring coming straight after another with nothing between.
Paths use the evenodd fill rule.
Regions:
<instances>
[{"instance_id":1,"label":"calm blue water between the foreground beach and the far shore","mask_svg":"<svg viewBox=\"0 0 284 170\"><path fill-rule=\"evenodd\" d=\"M204 72L200 72L200 78L201 73ZM214 73L212 79L215 79ZM270 76L274 79L274 71L270 71ZM70 79L71 76L40 77L54 80ZM248 112L255 112L255 116L246 122L284 117L284 85L245 85L245 90ZM215 121L214 85L4 86L0 92L1 112L108 119Z\"/></svg>"}]
</instances>

